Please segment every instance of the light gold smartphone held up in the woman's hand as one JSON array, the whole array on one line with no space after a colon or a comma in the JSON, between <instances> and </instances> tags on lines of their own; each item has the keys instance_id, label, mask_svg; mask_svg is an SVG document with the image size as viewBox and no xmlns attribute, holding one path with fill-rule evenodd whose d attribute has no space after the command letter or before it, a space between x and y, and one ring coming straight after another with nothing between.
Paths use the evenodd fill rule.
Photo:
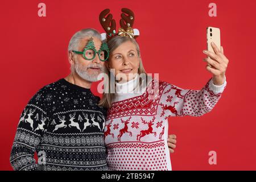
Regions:
<instances>
[{"instance_id":1,"label":"light gold smartphone held up in the woman's hand","mask_svg":"<svg viewBox=\"0 0 256 182\"><path fill-rule=\"evenodd\" d=\"M207 50L214 52L212 46L210 45L212 42L214 42L218 49L221 49L220 28L207 27ZM209 63L208 66L211 67Z\"/></svg>"}]
</instances>

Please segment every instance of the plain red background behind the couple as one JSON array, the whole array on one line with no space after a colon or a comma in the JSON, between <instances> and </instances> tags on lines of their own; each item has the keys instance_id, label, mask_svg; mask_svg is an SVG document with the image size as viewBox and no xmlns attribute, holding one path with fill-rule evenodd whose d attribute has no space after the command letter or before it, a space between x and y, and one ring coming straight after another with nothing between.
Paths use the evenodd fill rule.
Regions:
<instances>
[{"instance_id":1,"label":"plain red background behind the couple","mask_svg":"<svg viewBox=\"0 0 256 182\"><path fill-rule=\"evenodd\" d=\"M46 17L38 3L46 3ZM217 17L208 5L217 5ZM99 13L110 8L119 22L121 8L135 13L142 60L148 73L184 89L201 89L211 77L205 69L206 27L220 27L229 59L228 85L216 107L202 117L170 118L177 135L174 170L256 169L255 9L256 1L1 1L0 169L9 162L19 116L42 86L69 73L69 39L82 28L103 32ZM119 23L118 23L119 27ZM96 84L92 90L97 94ZM217 152L217 165L208 152Z\"/></svg>"}]
</instances>

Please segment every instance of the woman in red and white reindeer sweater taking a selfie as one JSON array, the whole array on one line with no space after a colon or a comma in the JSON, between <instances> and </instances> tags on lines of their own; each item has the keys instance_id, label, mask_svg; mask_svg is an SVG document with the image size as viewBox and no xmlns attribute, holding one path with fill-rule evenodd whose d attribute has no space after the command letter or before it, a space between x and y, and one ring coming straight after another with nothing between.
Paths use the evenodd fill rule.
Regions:
<instances>
[{"instance_id":1,"label":"woman in red and white reindeer sweater taking a selfie","mask_svg":"<svg viewBox=\"0 0 256 182\"><path fill-rule=\"evenodd\" d=\"M109 85L100 105L109 108L105 125L109 169L171 170L168 117L199 117L217 104L226 86L228 59L223 48L212 43L214 52L204 51L212 78L201 90L190 90L145 77L134 38L115 35L108 39L108 46Z\"/></svg>"}]
</instances>

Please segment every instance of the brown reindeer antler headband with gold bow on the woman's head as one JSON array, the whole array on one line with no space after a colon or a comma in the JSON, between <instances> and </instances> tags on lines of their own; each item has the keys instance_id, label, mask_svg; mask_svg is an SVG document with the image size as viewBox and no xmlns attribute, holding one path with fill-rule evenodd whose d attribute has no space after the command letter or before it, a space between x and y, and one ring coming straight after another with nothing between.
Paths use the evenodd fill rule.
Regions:
<instances>
[{"instance_id":1,"label":"brown reindeer antler headband with gold bow on the woman's head","mask_svg":"<svg viewBox=\"0 0 256 182\"><path fill-rule=\"evenodd\" d=\"M130 38L134 38L134 39L138 37L139 30L136 28L135 29L132 28L134 23L133 11L127 8L122 8L123 13L121 14L121 19L120 19L121 27L118 29L118 34L116 34L116 31L115 31L115 20L112 19L113 15L109 14L109 12L110 12L109 9L105 9L101 11L99 16L101 26L106 31L106 33L101 34L102 40L104 39L109 40L116 35L129 36Z\"/></svg>"}]
</instances>

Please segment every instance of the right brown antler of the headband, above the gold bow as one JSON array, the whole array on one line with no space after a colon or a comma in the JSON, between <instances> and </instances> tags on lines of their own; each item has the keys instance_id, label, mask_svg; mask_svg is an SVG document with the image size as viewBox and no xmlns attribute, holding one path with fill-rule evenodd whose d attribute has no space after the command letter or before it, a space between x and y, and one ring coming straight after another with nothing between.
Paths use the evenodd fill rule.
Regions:
<instances>
[{"instance_id":1,"label":"right brown antler of the headband, above the gold bow","mask_svg":"<svg viewBox=\"0 0 256 182\"><path fill-rule=\"evenodd\" d=\"M124 29L127 30L128 27L133 27L134 23L134 13L133 11L127 9L127 8L122 8L122 14L120 19L120 26ZM125 15L125 13L127 15Z\"/></svg>"}]
</instances>

